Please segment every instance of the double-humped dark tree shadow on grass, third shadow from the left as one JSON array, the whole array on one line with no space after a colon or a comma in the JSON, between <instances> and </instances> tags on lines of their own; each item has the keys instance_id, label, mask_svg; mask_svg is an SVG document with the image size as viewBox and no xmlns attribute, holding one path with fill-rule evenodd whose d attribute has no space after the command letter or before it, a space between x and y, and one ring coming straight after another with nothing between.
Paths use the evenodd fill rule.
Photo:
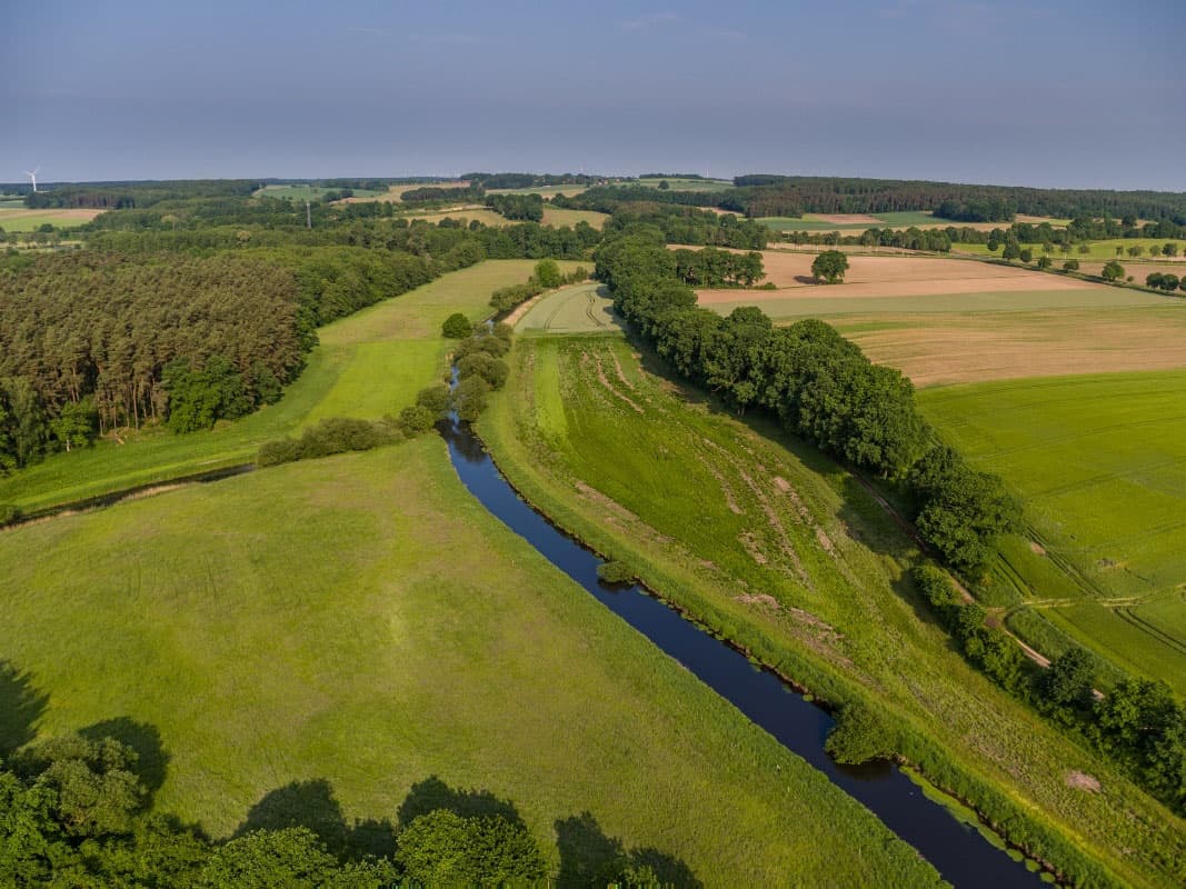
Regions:
<instances>
[{"instance_id":1,"label":"double-humped dark tree shadow on grass, third shadow from the left","mask_svg":"<svg viewBox=\"0 0 1186 889\"><path fill-rule=\"evenodd\" d=\"M307 827L340 861L365 856L389 857L395 852L391 821L368 818L347 824L332 785L324 778L293 781L269 791L251 806L235 836L286 827Z\"/></svg>"}]
</instances>

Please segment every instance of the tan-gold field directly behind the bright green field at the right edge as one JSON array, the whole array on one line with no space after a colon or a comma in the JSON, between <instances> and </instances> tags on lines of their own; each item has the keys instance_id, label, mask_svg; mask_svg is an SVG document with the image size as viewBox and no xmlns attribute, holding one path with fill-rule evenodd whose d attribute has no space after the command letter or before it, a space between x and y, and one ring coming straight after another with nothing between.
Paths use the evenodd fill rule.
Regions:
<instances>
[{"instance_id":1,"label":"tan-gold field directly behind the bright green field at the right edge","mask_svg":"<svg viewBox=\"0 0 1186 889\"><path fill-rule=\"evenodd\" d=\"M1186 301L1163 306L878 314L833 324L917 386L1186 367Z\"/></svg>"}]
</instances>

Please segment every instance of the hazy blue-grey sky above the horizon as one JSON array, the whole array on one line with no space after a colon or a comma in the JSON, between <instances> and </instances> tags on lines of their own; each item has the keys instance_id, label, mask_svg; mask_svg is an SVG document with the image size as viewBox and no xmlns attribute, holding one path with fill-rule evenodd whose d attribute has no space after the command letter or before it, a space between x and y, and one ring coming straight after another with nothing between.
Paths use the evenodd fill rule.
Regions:
<instances>
[{"instance_id":1,"label":"hazy blue-grey sky above the horizon","mask_svg":"<svg viewBox=\"0 0 1186 889\"><path fill-rule=\"evenodd\" d=\"M0 0L0 181L1186 191L1184 49L1181 0Z\"/></svg>"}]
</instances>

